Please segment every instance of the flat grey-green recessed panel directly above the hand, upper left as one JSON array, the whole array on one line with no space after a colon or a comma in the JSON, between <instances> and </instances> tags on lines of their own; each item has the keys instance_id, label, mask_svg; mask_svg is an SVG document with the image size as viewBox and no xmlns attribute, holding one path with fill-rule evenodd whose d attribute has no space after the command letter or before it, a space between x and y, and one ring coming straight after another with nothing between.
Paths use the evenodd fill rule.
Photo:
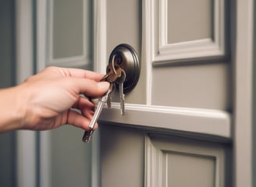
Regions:
<instances>
[{"instance_id":1,"label":"flat grey-green recessed panel directly above the hand, upper left","mask_svg":"<svg viewBox=\"0 0 256 187\"><path fill-rule=\"evenodd\" d=\"M52 58L84 54L84 2L52 2ZM76 21L74 21L76 20Z\"/></svg>"}]
</instances>

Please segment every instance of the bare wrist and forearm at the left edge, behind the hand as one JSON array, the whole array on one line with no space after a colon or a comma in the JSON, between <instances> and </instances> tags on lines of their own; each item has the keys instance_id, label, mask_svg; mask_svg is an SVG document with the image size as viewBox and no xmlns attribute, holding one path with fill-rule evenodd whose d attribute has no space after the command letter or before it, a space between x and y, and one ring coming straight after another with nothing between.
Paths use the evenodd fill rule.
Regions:
<instances>
[{"instance_id":1,"label":"bare wrist and forearm at the left edge, behind the hand","mask_svg":"<svg viewBox=\"0 0 256 187\"><path fill-rule=\"evenodd\" d=\"M20 86L0 90L0 132L21 129L25 102Z\"/></svg>"}]
</instances>

